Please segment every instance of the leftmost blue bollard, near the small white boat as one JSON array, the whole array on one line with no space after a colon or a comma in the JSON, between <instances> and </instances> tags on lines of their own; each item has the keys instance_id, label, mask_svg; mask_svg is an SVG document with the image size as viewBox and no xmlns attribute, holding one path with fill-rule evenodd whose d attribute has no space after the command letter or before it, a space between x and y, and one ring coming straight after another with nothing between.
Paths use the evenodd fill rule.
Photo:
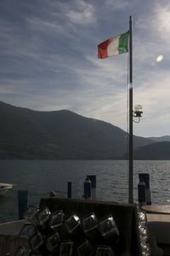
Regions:
<instances>
[{"instance_id":1,"label":"leftmost blue bollard, near the small white boat","mask_svg":"<svg viewBox=\"0 0 170 256\"><path fill-rule=\"evenodd\" d=\"M18 213L19 219L24 219L23 214L28 207L28 191L18 191Z\"/></svg>"}]
</instances>

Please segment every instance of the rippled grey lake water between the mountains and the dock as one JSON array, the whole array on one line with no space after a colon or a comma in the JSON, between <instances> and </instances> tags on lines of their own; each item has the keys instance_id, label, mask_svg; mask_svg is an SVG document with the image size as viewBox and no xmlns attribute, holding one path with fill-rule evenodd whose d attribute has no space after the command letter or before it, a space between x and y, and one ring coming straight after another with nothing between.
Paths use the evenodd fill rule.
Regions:
<instances>
[{"instance_id":1,"label":"rippled grey lake water between the mountains and the dock","mask_svg":"<svg viewBox=\"0 0 170 256\"><path fill-rule=\"evenodd\" d=\"M139 173L148 173L152 203L170 204L170 161L134 161L133 169L135 202ZM82 198L83 181L88 174L97 176L98 199L128 201L127 161L0 161L0 182L16 185L0 196L0 222L18 219L18 191L29 191L28 203L38 205L49 191L67 196L67 183L71 181L72 197Z\"/></svg>"}]
</instances>

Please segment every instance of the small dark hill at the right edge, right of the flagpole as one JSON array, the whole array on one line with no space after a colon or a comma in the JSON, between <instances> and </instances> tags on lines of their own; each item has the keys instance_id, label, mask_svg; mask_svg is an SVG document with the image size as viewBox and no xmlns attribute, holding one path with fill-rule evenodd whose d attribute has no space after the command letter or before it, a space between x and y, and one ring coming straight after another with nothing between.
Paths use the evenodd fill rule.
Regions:
<instances>
[{"instance_id":1,"label":"small dark hill at the right edge, right of the flagpole","mask_svg":"<svg viewBox=\"0 0 170 256\"><path fill-rule=\"evenodd\" d=\"M170 160L170 141L161 141L140 147L134 158L141 160Z\"/></svg>"}]
</instances>

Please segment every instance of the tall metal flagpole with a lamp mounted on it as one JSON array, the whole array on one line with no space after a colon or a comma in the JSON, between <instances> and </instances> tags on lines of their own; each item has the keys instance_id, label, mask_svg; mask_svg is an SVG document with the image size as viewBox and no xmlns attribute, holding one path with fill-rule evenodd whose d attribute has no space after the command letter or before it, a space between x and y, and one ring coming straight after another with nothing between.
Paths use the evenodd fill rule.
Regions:
<instances>
[{"instance_id":1,"label":"tall metal flagpole with a lamp mounted on it","mask_svg":"<svg viewBox=\"0 0 170 256\"><path fill-rule=\"evenodd\" d=\"M129 171L128 202L133 203L133 32L132 16L129 16Z\"/></svg>"}]
</instances>

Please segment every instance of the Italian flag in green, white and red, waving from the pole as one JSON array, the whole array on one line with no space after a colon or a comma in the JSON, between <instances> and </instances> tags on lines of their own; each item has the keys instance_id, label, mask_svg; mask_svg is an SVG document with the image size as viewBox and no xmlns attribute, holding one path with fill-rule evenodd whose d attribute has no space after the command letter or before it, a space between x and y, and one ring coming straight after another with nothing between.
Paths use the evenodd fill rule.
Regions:
<instances>
[{"instance_id":1,"label":"Italian flag in green, white and red, waving from the pole","mask_svg":"<svg viewBox=\"0 0 170 256\"><path fill-rule=\"evenodd\" d=\"M128 52L129 31L116 37L111 37L98 45L98 58L105 59L116 54Z\"/></svg>"}]
</instances>

